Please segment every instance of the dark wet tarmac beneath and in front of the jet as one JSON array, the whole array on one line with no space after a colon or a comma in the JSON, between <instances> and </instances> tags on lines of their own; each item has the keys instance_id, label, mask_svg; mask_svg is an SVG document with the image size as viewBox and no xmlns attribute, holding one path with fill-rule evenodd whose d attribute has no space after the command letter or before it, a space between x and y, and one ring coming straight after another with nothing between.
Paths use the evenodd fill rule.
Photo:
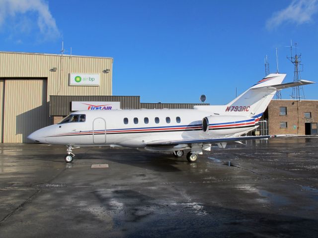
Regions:
<instances>
[{"instance_id":1,"label":"dark wet tarmac beneath and in front of the jet","mask_svg":"<svg viewBox=\"0 0 318 238\"><path fill-rule=\"evenodd\" d=\"M0 144L0 237L316 238L317 144L250 141L195 164L102 147L66 164L66 147Z\"/></svg>"}]
</instances>

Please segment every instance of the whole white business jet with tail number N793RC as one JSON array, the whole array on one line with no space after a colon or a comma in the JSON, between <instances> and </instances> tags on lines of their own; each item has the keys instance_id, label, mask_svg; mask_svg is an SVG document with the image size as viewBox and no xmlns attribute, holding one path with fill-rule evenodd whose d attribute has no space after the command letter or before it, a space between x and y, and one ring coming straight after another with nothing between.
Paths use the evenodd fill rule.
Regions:
<instances>
[{"instance_id":1,"label":"whole white business jet with tail number N793RC","mask_svg":"<svg viewBox=\"0 0 318 238\"><path fill-rule=\"evenodd\" d=\"M232 102L194 109L88 110L71 113L61 122L39 129L28 139L42 144L66 145L65 161L73 161L79 146L124 146L149 151L169 151L195 162L212 146L228 142L276 137L241 136L257 128L276 90L311 84L300 80L283 83L286 74L269 74Z\"/></svg>"}]
</instances>

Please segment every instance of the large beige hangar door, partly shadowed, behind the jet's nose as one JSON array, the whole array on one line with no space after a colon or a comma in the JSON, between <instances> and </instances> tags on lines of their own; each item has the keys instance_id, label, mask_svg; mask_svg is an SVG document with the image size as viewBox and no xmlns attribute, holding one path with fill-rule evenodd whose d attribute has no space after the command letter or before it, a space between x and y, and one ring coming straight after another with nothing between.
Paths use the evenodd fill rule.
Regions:
<instances>
[{"instance_id":1,"label":"large beige hangar door, partly shadowed, behind the jet's nose","mask_svg":"<svg viewBox=\"0 0 318 238\"><path fill-rule=\"evenodd\" d=\"M49 124L47 80L4 79L2 142L31 142L26 137Z\"/></svg>"}]
</instances>

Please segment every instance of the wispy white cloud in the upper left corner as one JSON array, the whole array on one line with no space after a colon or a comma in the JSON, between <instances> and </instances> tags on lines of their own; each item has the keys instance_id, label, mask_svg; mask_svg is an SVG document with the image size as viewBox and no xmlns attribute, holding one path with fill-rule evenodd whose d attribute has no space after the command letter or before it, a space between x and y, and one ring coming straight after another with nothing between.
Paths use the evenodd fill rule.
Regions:
<instances>
[{"instance_id":1,"label":"wispy white cloud in the upper left corner","mask_svg":"<svg viewBox=\"0 0 318 238\"><path fill-rule=\"evenodd\" d=\"M34 15L37 17L36 24L31 19ZM25 33L26 29L30 32L33 25L44 40L61 36L49 5L44 0L0 0L0 28L8 26Z\"/></svg>"}]
</instances>

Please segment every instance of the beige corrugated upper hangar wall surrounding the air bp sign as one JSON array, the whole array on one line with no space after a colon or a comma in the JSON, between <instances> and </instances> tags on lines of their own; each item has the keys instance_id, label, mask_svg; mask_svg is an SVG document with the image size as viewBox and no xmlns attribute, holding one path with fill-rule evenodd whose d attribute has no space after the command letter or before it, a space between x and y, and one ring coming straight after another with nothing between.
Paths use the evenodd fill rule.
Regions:
<instances>
[{"instance_id":1,"label":"beige corrugated upper hangar wall surrounding the air bp sign","mask_svg":"<svg viewBox=\"0 0 318 238\"><path fill-rule=\"evenodd\" d=\"M111 95L112 64L111 58L0 52L0 78L45 77L48 95ZM100 86L69 86L69 73L99 73Z\"/></svg>"}]
</instances>

